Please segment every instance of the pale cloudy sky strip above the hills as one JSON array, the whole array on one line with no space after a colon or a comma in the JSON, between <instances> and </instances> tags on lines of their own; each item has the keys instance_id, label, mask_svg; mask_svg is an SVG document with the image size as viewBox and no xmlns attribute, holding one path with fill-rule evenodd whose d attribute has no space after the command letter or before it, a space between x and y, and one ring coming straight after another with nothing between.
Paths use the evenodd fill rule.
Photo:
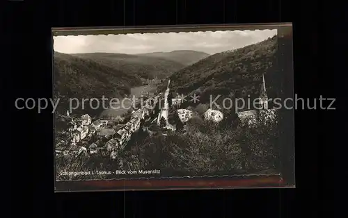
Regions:
<instances>
[{"instance_id":1,"label":"pale cloudy sky strip above the hills","mask_svg":"<svg viewBox=\"0 0 348 218\"><path fill-rule=\"evenodd\" d=\"M136 33L126 35L69 35L54 37L54 51L61 53L151 53L175 50L214 54L254 44L277 30L206 31L196 33Z\"/></svg>"}]
</instances>

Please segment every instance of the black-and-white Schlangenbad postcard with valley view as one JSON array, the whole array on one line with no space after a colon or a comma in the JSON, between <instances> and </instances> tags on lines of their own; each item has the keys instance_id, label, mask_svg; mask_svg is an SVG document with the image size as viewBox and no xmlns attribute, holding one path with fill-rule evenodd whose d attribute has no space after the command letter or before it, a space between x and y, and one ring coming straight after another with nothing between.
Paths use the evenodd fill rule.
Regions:
<instances>
[{"instance_id":1,"label":"black-and-white Schlangenbad postcard with valley view","mask_svg":"<svg viewBox=\"0 0 348 218\"><path fill-rule=\"evenodd\" d=\"M291 24L52 42L56 192L294 187Z\"/></svg>"}]
</instances>

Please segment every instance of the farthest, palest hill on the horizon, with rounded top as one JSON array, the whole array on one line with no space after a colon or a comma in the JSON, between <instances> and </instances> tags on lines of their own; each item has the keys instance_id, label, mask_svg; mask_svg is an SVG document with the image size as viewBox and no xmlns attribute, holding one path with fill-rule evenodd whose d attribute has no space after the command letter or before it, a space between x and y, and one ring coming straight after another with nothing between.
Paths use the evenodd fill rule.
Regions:
<instances>
[{"instance_id":1,"label":"farthest, palest hill on the horizon, with rounded top","mask_svg":"<svg viewBox=\"0 0 348 218\"><path fill-rule=\"evenodd\" d=\"M141 53L139 54L139 56L164 58L167 60L178 62L182 65L188 66L188 65L192 65L198 60L207 58L207 56L209 56L209 53L205 53L201 51L191 51L191 50L177 50L177 51L171 51L171 52Z\"/></svg>"}]
</instances>

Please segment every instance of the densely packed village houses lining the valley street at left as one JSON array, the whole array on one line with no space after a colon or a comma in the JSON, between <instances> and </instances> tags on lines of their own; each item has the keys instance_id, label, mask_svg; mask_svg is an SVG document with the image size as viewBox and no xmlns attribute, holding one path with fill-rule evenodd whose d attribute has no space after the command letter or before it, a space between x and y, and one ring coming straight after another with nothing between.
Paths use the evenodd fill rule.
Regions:
<instances>
[{"instance_id":1,"label":"densely packed village houses lining the valley street at left","mask_svg":"<svg viewBox=\"0 0 348 218\"><path fill-rule=\"evenodd\" d=\"M168 82L169 86L170 81ZM175 126L168 123L168 92L167 87L166 94L164 94L165 106L161 108L158 117L155 119L150 116L155 112L155 106L162 96L162 93L157 94L156 97L146 99L143 106L138 110L131 110L132 115L129 121L123 124L115 124L115 120L111 119L97 119L92 121L90 115L82 115L81 117L73 117L67 111L63 116L63 122L67 123L67 130L63 131L67 140L58 141L56 144L56 156L73 154L74 156L90 156L101 155L104 157L110 157L116 159L118 153L125 149L127 142L129 142L132 134L139 130L141 127L141 121L150 121L154 123L157 120L157 124L160 126L161 117L166 120L166 126L164 129L175 131ZM152 101L153 100L153 101ZM182 99L172 99L173 106L180 106ZM182 123L187 122L193 115L191 110L179 109L177 114L180 117ZM117 117L118 121L123 122L122 117ZM153 119L153 120L150 120ZM152 131L149 128L143 126L144 131L148 131L152 135ZM166 135L166 134L164 134Z\"/></svg>"}]
</instances>

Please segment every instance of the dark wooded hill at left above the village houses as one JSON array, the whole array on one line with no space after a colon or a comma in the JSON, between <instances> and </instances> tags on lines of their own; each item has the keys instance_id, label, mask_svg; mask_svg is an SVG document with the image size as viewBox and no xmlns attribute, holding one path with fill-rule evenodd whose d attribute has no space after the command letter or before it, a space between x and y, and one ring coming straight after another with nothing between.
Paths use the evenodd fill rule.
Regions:
<instances>
[{"instance_id":1,"label":"dark wooded hill at left above the village houses","mask_svg":"<svg viewBox=\"0 0 348 218\"><path fill-rule=\"evenodd\" d=\"M106 98L123 97L136 85L141 85L138 76L89 58L54 53L54 94L61 98L58 112L68 110L68 98L81 101L82 98L101 99L103 95Z\"/></svg>"}]
</instances>

